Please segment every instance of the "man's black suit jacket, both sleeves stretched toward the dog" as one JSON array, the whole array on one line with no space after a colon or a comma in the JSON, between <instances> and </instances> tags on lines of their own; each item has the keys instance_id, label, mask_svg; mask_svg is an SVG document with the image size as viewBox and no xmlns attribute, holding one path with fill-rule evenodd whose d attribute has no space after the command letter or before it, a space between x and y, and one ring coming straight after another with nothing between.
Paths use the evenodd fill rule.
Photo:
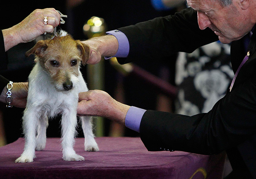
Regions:
<instances>
[{"instance_id":1,"label":"man's black suit jacket, both sleeves stretched toward the dog","mask_svg":"<svg viewBox=\"0 0 256 179\"><path fill-rule=\"evenodd\" d=\"M192 52L217 41L209 29L201 31L191 8L175 16L119 28L129 40L128 63L178 51ZM234 72L246 53L243 39L231 44ZM226 150L233 170L256 178L256 31L250 45L249 60L241 68L231 92L220 99L208 113L184 116L147 110L141 120L140 136L149 151L179 150L198 154L217 154ZM168 59L168 58L167 58ZM251 177L251 176L250 176ZM249 178L250 178L249 177Z\"/></svg>"}]
</instances>

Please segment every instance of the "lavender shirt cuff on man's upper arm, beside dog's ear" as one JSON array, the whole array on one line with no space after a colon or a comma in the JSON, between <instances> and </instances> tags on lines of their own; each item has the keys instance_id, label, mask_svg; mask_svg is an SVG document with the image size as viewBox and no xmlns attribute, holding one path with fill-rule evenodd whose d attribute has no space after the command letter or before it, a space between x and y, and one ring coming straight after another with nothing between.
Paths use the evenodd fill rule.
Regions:
<instances>
[{"instance_id":1,"label":"lavender shirt cuff on man's upper arm, beside dog's ear","mask_svg":"<svg viewBox=\"0 0 256 179\"><path fill-rule=\"evenodd\" d=\"M106 32L108 35L114 35L116 39L118 40L118 51L113 57L127 57L129 54L129 41L126 35L119 31L119 30L113 30ZM106 60L110 59L112 57L104 57Z\"/></svg>"}]
</instances>

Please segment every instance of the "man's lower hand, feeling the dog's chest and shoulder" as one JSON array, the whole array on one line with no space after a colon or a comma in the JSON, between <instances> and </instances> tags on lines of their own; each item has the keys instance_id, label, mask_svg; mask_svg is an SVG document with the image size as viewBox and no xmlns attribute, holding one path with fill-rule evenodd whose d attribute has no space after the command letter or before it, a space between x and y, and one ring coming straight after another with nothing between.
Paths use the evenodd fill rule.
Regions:
<instances>
[{"instance_id":1,"label":"man's lower hand, feeling the dog's chest and shoulder","mask_svg":"<svg viewBox=\"0 0 256 179\"><path fill-rule=\"evenodd\" d=\"M101 116L125 125L125 116L130 106L114 100L107 92L90 90L79 93L77 114L79 116Z\"/></svg>"}]
</instances>

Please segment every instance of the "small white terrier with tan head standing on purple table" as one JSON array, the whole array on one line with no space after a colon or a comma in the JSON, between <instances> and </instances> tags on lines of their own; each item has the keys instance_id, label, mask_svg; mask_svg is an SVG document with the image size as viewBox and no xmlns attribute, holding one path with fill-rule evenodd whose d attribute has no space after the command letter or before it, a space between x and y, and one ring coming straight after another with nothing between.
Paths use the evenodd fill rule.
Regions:
<instances>
[{"instance_id":1,"label":"small white terrier with tan head standing on purple table","mask_svg":"<svg viewBox=\"0 0 256 179\"><path fill-rule=\"evenodd\" d=\"M61 145L63 160L81 161L73 149L77 127L78 94L88 91L80 72L80 65L86 64L90 49L79 40L74 40L65 31L59 31L52 40L41 40L25 53L34 54L35 65L28 76L27 106L22 117L25 137L24 152L16 163L32 162L35 150L46 145L48 118L58 114L61 117ZM92 118L80 117L85 136L85 151L98 151L92 132Z\"/></svg>"}]
</instances>

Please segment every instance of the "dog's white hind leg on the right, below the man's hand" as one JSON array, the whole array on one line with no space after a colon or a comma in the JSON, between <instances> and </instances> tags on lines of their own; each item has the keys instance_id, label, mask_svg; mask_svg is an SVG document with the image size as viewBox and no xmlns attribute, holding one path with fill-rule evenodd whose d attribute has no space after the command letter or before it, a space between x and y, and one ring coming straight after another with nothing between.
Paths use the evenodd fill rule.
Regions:
<instances>
[{"instance_id":1,"label":"dog's white hind leg on the right, below the man's hand","mask_svg":"<svg viewBox=\"0 0 256 179\"><path fill-rule=\"evenodd\" d=\"M82 120L83 135L85 136L85 151L99 151L98 145L92 132L92 117L83 116Z\"/></svg>"}]
</instances>

